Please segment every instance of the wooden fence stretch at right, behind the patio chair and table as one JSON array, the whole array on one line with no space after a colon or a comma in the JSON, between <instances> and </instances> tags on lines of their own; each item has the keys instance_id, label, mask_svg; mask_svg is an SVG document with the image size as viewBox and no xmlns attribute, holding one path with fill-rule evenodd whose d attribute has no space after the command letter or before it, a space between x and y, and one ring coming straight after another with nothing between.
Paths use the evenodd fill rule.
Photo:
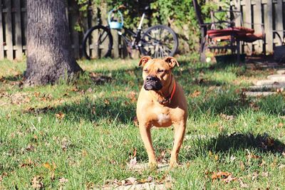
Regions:
<instances>
[{"instance_id":1,"label":"wooden fence stretch at right, behind the patio chair and table","mask_svg":"<svg viewBox=\"0 0 285 190\"><path fill-rule=\"evenodd\" d=\"M265 44L262 41L247 43L242 50L246 53L273 53L274 47L281 45L276 33L282 40L284 38L285 0L232 0L231 3L234 10L242 11L245 27L261 33L260 23L264 24Z\"/></svg>"}]
</instances>

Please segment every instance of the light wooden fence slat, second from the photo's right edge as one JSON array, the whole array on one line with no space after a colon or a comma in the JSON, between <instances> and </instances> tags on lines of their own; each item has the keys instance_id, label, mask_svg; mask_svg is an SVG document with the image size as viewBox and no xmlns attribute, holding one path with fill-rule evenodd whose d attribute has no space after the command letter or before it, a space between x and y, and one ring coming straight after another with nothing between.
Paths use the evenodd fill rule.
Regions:
<instances>
[{"instance_id":1,"label":"light wooden fence slat, second from the photo's right edge","mask_svg":"<svg viewBox=\"0 0 285 190\"><path fill-rule=\"evenodd\" d=\"M264 28L266 33L266 51L273 52L273 33L272 33L272 1L267 0L264 4Z\"/></svg>"}]
</instances>

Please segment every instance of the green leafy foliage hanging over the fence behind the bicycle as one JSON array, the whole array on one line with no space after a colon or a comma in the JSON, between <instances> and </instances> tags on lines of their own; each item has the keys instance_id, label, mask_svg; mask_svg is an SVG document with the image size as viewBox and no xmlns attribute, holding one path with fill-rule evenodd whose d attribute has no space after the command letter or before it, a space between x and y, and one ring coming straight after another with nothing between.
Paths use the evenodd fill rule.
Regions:
<instances>
[{"instance_id":1,"label":"green leafy foliage hanging over the fence behind the bicycle","mask_svg":"<svg viewBox=\"0 0 285 190\"><path fill-rule=\"evenodd\" d=\"M108 10L106 11L108 12L120 5L125 5L125 9L123 9L122 12L124 16L124 25L127 28L136 28L144 7L150 5L151 10L147 13L148 18L145 19L145 25L153 26L155 24L165 24L174 29L180 38L180 51L182 53L195 51L198 48L197 42L199 41L199 26L197 25L196 14L192 1L190 0L77 0L77 2L80 6L80 11L83 12L87 11L90 3L93 7L94 13L98 7L107 7ZM209 21L210 11L217 10L219 6L227 8L229 4L226 2L227 0L219 1L219 3L214 0L199 1L199 4L202 5L202 14L205 21ZM224 14L220 14L218 16L222 18L224 17Z\"/></svg>"}]
</instances>

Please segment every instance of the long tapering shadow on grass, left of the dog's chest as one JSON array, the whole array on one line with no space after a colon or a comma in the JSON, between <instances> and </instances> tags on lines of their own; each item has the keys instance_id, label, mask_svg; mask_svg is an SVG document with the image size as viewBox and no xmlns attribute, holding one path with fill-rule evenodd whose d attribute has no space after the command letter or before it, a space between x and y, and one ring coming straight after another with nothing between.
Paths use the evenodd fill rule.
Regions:
<instances>
[{"instance_id":1,"label":"long tapering shadow on grass, left of the dog's chest","mask_svg":"<svg viewBox=\"0 0 285 190\"><path fill-rule=\"evenodd\" d=\"M99 122L104 120L109 124L114 122L129 124L135 118L135 103L128 101L126 97L98 98L97 100L86 97L80 102L32 109L28 110L28 113L52 115L53 117L64 114L64 120L73 122L80 122L81 120Z\"/></svg>"}]
</instances>

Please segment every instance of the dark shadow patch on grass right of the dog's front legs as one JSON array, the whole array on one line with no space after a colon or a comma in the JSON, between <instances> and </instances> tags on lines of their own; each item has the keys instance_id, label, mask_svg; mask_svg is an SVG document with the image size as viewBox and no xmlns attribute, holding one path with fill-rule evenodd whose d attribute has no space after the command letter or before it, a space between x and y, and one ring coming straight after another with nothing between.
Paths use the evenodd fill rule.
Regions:
<instances>
[{"instance_id":1,"label":"dark shadow patch on grass right of the dog's front legs","mask_svg":"<svg viewBox=\"0 0 285 190\"><path fill-rule=\"evenodd\" d=\"M269 134L257 134L252 132L232 134L220 133L217 137L198 137L192 140L194 146L190 151L185 152L185 159L193 159L194 157L201 157L201 155L213 153L235 154L239 151L249 150L251 154L254 150L260 154L283 154L285 151L285 144L279 139L269 136ZM249 155L257 157L257 155Z\"/></svg>"}]
</instances>

